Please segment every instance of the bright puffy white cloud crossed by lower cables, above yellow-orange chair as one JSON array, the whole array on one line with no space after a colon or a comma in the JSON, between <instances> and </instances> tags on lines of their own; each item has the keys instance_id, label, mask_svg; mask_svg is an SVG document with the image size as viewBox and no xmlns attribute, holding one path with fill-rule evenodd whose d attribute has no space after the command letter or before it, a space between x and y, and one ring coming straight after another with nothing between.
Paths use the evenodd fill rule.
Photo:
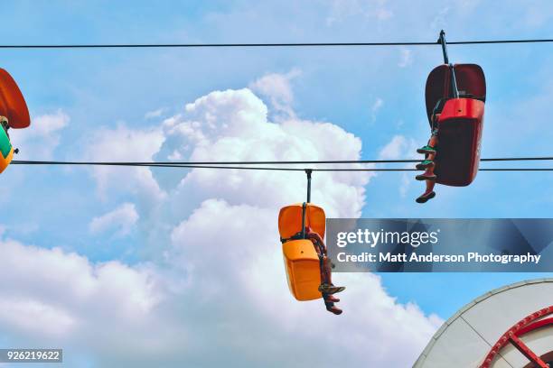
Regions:
<instances>
[{"instance_id":1,"label":"bright puffy white cloud crossed by lower cables, above yellow-orange chair","mask_svg":"<svg viewBox=\"0 0 553 368\"><path fill-rule=\"evenodd\" d=\"M164 122L159 159L184 161L357 160L361 140L337 125L267 120L267 106L249 89L216 91L186 106L186 114ZM336 147L340 147L339 150ZM357 167L362 167L358 165ZM176 175L176 174L175 174ZM333 216L360 216L367 172L317 172L313 198ZM161 174L156 178L163 180ZM162 184L165 185L165 184ZM173 187L174 188L174 187ZM174 203L230 198L232 204L280 206L305 198L303 172L192 170L176 189ZM185 198L189 198L185 200ZM192 208L188 208L190 210Z\"/></svg>"}]
</instances>

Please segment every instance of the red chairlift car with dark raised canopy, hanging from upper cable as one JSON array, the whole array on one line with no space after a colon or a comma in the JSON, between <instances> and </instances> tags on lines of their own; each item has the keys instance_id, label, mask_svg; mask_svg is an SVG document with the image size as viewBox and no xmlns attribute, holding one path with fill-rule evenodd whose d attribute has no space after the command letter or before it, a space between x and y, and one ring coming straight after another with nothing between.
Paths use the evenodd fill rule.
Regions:
<instances>
[{"instance_id":1,"label":"red chairlift car with dark raised canopy, hanging from upper cable","mask_svg":"<svg viewBox=\"0 0 553 368\"><path fill-rule=\"evenodd\" d=\"M444 64L430 72L425 90L426 115L431 131L437 132L436 157L430 168L417 169L432 169L436 183L464 187L473 182L480 163L486 80L479 65L449 63L444 31L439 42Z\"/></svg>"}]
</instances>

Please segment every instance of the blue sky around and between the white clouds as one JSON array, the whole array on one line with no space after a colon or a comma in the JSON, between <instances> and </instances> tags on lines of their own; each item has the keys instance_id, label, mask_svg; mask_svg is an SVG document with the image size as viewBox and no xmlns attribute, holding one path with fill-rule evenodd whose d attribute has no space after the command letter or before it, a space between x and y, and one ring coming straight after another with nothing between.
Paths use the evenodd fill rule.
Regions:
<instances>
[{"instance_id":1,"label":"blue sky around and between the white clouds","mask_svg":"<svg viewBox=\"0 0 553 368\"><path fill-rule=\"evenodd\" d=\"M2 8L3 44L434 41L442 28L451 41L551 38L553 34L553 6L546 1L507 1L501 9L478 0L415 5L385 0L136 1L132 6L108 1L21 1L5 2ZM185 104L212 91L251 86L268 74L293 76L286 78L293 98L285 102L296 118L329 122L353 133L361 139L361 158L379 157L393 142L397 143L398 157L408 157L414 146L426 142L423 88L427 73L442 61L438 46L0 53L2 67L20 84L33 118L42 117L46 125L52 119L59 124L36 135L24 133L28 136L23 135L19 143L14 133L21 157L35 160L109 158L110 151L115 159L145 160L148 154L152 156L147 146L154 147L157 142L155 130L164 119L182 115ZM548 107L553 98L553 78L549 66L553 49L549 44L450 46L449 55L455 62L480 64L486 74L483 157L550 155L553 131L548 129ZM270 96L258 93L258 97L268 106L269 118L277 121L279 112ZM158 114L146 117L156 111ZM30 131L33 129L34 125ZM139 143L117 146L117 139L109 142L110 134ZM140 134L149 137L144 138L144 144ZM100 136L106 139L95 146ZM394 137L398 139L394 141ZM118 152L126 147L136 154ZM333 149L337 155L342 151L340 146ZM191 216L200 203L194 198L179 198L183 203L173 204L176 208L160 210L152 205L150 189L143 191L132 179L126 183L125 178L107 176L108 189L102 190L98 175L82 168L10 167L2 178L5 196L0 203L10 214L2 221L3 237L39 248L59 247L65 253L85 257L90 264L164 264L157 246L169 241L167 228ZM182 175L174 175L158 170L153 178L165 189L172 180L182 179ZM548 173L481 172L470 187L439 187L436 199L420 206L414 201L422 190L419 183L402 173L382 173L365 186L361 214L549 217L551 184L553 177ZM225 198L218 191L223 189L213 190L213 198ZM303 188L298 188L297 195L303 195ZM234 204L232 196L225 199ZM323 202L326 198L313 200ZM251 205L248 200L246 203ZM337 207L346 208L348 203ZM102 218L115 208L122 211L117 214L136 214L140 219L91 230L93 218ZM112 217L103 218L109 222ZM277 246L276 235L275 242ZM380 275L389 297L401 304L416 303L425 315L444 319L487 290L544 276ZM8 342L25 341L21 330L12 331L13 335L5 333ZM2 337L0 334L0 341ZM90 353L82 348L80 353L91 364L95 359L106 362L102 360L108 359L105 356L95 355L103 354L98 351L104 352Z\"/></svg>"}]
</instances>

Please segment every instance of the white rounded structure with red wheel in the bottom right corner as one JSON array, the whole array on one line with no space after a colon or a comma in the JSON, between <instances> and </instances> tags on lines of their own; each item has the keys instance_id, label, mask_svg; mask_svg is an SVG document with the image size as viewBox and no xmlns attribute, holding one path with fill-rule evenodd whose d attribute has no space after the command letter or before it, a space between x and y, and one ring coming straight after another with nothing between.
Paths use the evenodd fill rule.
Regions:
<instances>
[{"instance_id":1,"label":"white rounded structure with red wheel in the bottom right corner","mask_svg":"<svg viewBox=\"0 0 553 368\"><path fill-rule=\"evenodd\" d=\"M553 367L553 279L474 299L438 329L414 367Z\"/></svg>"}]
</instances>

